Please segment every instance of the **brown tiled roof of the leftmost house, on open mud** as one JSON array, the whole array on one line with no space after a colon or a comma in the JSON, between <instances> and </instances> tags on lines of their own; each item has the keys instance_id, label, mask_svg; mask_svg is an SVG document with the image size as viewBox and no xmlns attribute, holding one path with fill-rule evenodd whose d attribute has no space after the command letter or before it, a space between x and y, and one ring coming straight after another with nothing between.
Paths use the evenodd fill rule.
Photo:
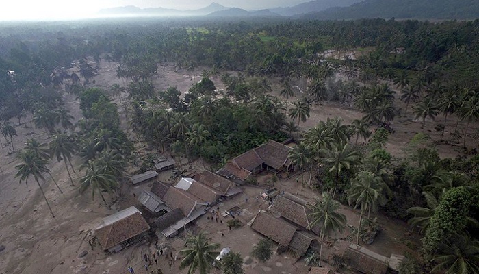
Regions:
<instances>
[{"instance_id":1,"label":"brown tiled roof of the leftmost house, on open mud","mask_svg":"<svg viewBox=\"0 0 479 274\"><path fill-rule=\"evenodd\" d=\"M98 238L101 248L107 250L129 238L146 232L148 229L150 229L150 226L143 219L142 214L136 212L115 223L97 229L96 238Z\"/></svg>"}]
</instances>

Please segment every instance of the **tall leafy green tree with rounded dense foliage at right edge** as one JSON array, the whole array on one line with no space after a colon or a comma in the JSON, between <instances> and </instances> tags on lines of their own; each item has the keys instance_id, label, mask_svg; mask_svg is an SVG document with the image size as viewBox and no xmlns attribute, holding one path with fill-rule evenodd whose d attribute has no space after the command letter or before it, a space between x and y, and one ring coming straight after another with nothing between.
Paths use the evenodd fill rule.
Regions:
<instances>
[{"instance_id":1,"label":"tall leafy green tree with rounded dense foliage at right edge","mask_svg":"<svg viewBox=\"0 0 479 274\"><path fill-rule=\"evenodd\" d=\"M443 195L422 238L424 253L436 253L441 242L465 228L471 202L471 193L465 187L451 188Z\"/></svg>"}]
</instances>

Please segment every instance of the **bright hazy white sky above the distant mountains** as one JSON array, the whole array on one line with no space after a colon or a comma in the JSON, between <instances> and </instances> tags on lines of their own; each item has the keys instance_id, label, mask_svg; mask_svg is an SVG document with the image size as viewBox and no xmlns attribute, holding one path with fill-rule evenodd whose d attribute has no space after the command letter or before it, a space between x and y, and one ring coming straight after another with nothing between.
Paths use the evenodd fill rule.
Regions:
<instances>
[{"instance_id":1,"label":"bright hazy white sky above the distant mountains","mask_svg":"<svg viewBox=\"0 0 479 274\"><path fill-rule=\"evenodd\" d=\"M259 10L287 7L311 0L216 0L226 7ZM102 8L136 5L140 8L203 8L212 0L1 0L0 21L86 18Z\"/></svg>"}]
</instances>

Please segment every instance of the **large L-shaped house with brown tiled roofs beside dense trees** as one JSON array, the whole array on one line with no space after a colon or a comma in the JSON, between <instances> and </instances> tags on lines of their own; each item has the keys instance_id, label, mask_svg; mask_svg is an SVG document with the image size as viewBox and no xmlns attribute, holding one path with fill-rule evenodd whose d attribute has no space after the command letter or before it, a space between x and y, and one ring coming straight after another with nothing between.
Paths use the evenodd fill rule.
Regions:
<instances>
[{"instance_id":1,"label":"large L-shaped house with brown tiled roofs beside dense trees","mask_svg":"<svg viewBox=\"0 0 479 274\"><path fill-rule=\"evenodd\" d=\"M230 160L222 169L218 170L218 174L228 179L232 178L233 181L235 179L244 181L251 173L259 173L263 170L275 174L289 171L293 166L287 156L292 150L292 147L268 140L265 144Z\"/></svg>"}]
</instances>

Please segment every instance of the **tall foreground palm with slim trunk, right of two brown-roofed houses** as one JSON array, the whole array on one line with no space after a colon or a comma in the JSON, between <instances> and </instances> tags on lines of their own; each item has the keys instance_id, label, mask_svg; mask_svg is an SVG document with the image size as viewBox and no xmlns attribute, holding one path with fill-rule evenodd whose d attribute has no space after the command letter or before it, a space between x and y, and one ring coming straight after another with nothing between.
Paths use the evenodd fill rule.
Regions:
<instances>
[{"instance_id":1,"label":"tall foreground palm with slim trunk, right of two brown-roofed houses","mask_svg":"<svg viewBox=\"0 0 479 274\"><path fill-rule=\"evenodd\" d=\"M320 266L321 266L321 257L323 250L324 236L329 232L334 232L339 230L343 232L344 226L346 225L346 216L344 214L338 213L341 204L338 201L335 201L328 192L324 192L322 199L319 197L315 198L315 204L309 206L311 213L308 214L308 219L311 220L311 223L308 225L308 229L315 227L316 225L321 226L320 238L321 238L321 247L320 247Z\"/></svg>"}]
</instances>

